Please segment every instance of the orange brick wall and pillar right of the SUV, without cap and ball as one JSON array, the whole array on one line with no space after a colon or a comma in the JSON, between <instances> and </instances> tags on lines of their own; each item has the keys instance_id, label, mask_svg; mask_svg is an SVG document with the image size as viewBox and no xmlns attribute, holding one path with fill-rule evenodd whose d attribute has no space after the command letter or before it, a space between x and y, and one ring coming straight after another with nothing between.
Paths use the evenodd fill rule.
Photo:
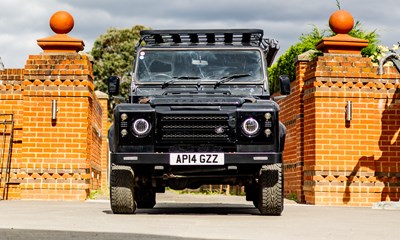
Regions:
<instances>
[{"instance_id":1,"label":"orange brick wall and pillar right of the SUV, without cap and ball","mask_svg":"<svg viewBox=\"0 0 400 240\"><path fill-rule=\"evenodd\" d=\"M386 67L377 76L370 59L354 54L324 54L297 68L293 96L281 102L282 109L300 111L281 115L289 136L286 195L317 205L398 201L400 75ZM348 101L351 121L345 120Z\"/></svg>"}]
</instances>

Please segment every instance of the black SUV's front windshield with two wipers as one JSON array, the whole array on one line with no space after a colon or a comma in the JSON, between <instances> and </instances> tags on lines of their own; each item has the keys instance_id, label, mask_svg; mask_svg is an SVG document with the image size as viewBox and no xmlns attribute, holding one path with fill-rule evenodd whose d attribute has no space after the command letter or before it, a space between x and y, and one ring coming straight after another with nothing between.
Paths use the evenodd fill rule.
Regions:
<instances>
[{"instance_id":1,"label":"black SUV's front windshield with two wipers","mask_svg":"<svg viewBox=\"0 0 400 240\"><path fill-rule=\"evenodd\" d=\"M264 76L257 49L146 49L139 52L137 64L139 82L254 83Z\"/></svg>"}]
</instances>

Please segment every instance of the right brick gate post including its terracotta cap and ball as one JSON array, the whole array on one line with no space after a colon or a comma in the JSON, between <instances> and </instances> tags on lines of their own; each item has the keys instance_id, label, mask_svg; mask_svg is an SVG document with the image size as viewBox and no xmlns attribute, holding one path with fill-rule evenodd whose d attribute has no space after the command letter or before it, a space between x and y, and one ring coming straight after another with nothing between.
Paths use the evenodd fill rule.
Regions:
<instances>
[{"instance_id":1,"label":"right brick gate post including its terracotta cap and ball","mask_svg":"<svg viewBox=\"0 0 400 240\"><path fill-rule=\"evenodd\" d=\"M341 19L337 14L343 21L332 20ZM377 75L371 59L361 56L368 42L347 34L353 23L343 10L331 16L337 35L317 44L323 55L305 73L303 190L309 204L399 199L399 74Z\"/></svg>"}]
</instances>

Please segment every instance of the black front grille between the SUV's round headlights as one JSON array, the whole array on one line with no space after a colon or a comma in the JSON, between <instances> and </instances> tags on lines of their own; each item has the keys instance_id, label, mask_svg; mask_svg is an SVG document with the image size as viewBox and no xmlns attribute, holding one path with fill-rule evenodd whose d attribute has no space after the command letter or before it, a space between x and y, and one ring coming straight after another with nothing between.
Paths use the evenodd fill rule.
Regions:
<instances>
[{"instance_id":1,"label":"black front grille between the SUV's round headlights","mask_svg":"<svg viewBox=\"0 0 400 240\"><path fill-rule=\"evenodd\" d=\"M163 113L159 114L157 119L159 143L229 143L234 141L235 117L228 113Z\"/></svg>"}]
</instances>

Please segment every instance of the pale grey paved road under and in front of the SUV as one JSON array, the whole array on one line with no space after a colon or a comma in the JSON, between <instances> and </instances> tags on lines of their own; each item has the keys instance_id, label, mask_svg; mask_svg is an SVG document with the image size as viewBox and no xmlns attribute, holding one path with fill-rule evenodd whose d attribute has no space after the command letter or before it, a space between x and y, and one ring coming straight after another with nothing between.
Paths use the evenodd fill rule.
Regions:
<instances>
[{"instance_id":1,"label":"pale grey paved road under and in front of the SUV","mask_svg":"<svg viewBox=\"0 0 400 240\"><path fill-rule=\"evenodd\" d=\"M0 201L0 239L397 239L400 211L285 205L260 216L244 197L158 197L154 209L113 215L107 201Z\"/></svg>"}]
</instances>

